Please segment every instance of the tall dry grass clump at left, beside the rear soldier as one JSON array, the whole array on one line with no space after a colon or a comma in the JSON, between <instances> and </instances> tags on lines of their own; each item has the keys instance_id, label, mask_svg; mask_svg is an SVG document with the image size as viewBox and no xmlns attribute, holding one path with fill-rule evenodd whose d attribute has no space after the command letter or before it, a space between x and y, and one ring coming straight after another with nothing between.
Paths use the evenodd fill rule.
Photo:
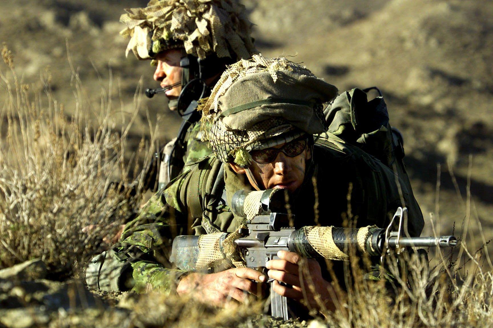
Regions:
<instances>
[{"instance_id":1,"label":"tall dry grass clump at left, beside the rear soldier","mask_svg":"<svg viewBox=\"0 0 493 328\"><path fill-rule=\"evenodd\" d=\"M5 45L2 57L0 268L40 257L54 271L70 272L137 211L153 149L144 139L128 149L132 119L121 131L113 128L111 85L96 111L72 68L77 101L69 118L51 95L49 71L41 73L40 87L21 84ZM135 151L130 162L125 151ZM88 225L99 228L83 233Z\"/></svg>"}]
</instances>

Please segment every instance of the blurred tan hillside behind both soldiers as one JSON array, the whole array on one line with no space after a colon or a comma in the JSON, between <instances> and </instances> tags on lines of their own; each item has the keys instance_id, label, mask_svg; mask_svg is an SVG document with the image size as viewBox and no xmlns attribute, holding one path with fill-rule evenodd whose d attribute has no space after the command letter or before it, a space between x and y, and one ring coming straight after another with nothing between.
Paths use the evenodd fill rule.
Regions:
<instances>
[{"instance_id":1,"label":"blurred tan hillside behind both soldiers","mask_svg":"<svg viewBox=\"0 0 493 328\"><path fill-rule=\"evenodd\" d=\"M102 88L112 92L116 106L121 104L115 118L119 129L132 117L140 81L143 89L158 87L149 61L125 58L127 40L118 34L123 8L146 3L0 1L0 41L12 50L22 83L42 89L39 76L49 77L68 117L75 108L69 53L90 111L99 110ZM390 122L404 135L405 161L425 217L424 234L432 233L430 213L435 213L440 233L452 233L453 222L458 228L468 213L470 190L470 215L480 219L486 239L493 238L493 1L244 4L263 55L296 55L292 60L304 62L341 92L370 86L383 91ZM2 82L0 86L3 102ZM142 136L150 137L148 118L159 125L160 145L176 135L180 119L168 110L165 96L142 96L130 147L136 149ZM6 126L6 119L0 124ZM479 227L473 223L469 229L475 235Z\"/></svg>"}]
</instances>

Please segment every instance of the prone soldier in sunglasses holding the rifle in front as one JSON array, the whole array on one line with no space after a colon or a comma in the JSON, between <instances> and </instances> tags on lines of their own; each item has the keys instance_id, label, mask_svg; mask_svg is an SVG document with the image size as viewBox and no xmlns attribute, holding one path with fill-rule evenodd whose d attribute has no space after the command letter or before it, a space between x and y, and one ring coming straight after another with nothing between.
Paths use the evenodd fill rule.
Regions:
<instances>
[{"instance_id":1,"label":"prone soldier in sunglasses holding the rifle in front","mask_svg":"<svg viewBox=\"0 0 493 328\"><path fill-rule=\"evenodd\" d=\"M334 86L284 58L254 55L228 68L200 107L203 123L209 123L202 131L213 155L151 198L127 225L120 244L102 255L108 269L99 264L88 269L118 274L107 281L88 279L88 284L139 293L193 293L220 305L228 298L244 301L257 292L255 282L273 278L275 292L295 302L306 293L308 305L317 307L313 292L303 291L296 253L281 251L279 260L269 261L268 277L250 268L206 274L170 266L171 241L180 228L202 235L235 232L242 225L244 219L228 207L242 189L286 189L295 228L343 226L351 216L357 217L357 227L386 227L389 214L406 206L408 232L419 236L421 210L412 194L399 190L391 170L358 147L324 133L323 104L336 95ZM320 299L333 309L325 262L308 260L308 269Z\"/></svg>"}]
</instances>

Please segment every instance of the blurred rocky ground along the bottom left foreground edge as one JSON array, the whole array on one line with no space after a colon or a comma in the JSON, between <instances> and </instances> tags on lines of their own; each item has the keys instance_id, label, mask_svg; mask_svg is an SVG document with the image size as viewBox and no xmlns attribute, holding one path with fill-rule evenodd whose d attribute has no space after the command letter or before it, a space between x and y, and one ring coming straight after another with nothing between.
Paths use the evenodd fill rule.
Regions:
<instances>
[{"instance_id":1,"label":"blurred rocky ground along the bottom left foreground edge","mask_svg":"<svg viewBox=\"0 0 493 328\"><path fill-rule=\"evenodd\" d=\"M260 314L258 305L218 310L156 294L93 294L75 278L48 280L40 259L0 270L1 328L326 327L317 321L274 319Z\"/></svg>"}]
</instances>

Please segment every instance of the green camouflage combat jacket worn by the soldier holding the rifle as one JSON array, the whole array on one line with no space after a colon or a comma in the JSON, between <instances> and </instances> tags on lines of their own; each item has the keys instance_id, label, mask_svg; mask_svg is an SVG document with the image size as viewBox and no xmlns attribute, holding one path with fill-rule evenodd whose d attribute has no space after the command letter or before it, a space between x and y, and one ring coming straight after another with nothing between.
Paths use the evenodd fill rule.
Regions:
<instances>
[{"instance_id":1,"label":"green camouflage combat jacket worn by the soldier holding the rifle","mask_svg":"<svg viewBox=\"0 0 493 328\"><path fill-rule=\"evenodd\" d=\"M419 236L424 224L421 209L412 192L405 188L400 192L399 182L375 157L325 133L316 140L305 180L289 201L294 226L343 226L344 220L355 220L357 227L387 227L395 210L406 206L408 233ZM213 187L220 192L212 194ZM110 274L111 281L100 282L97 288L174 292L180 276L188 272L169 262L173 238L237 230L244 219L234 216L227 204L241 189L252 190L244 175L235 174L213 156L199 160L154 195L127 224L120 243L104 255L105 265L121 265ZM320 263L324 277L331 280L323 271L325 261ZM95 285L87 281L89 287Z\"/></svg>"}]
</instances>

